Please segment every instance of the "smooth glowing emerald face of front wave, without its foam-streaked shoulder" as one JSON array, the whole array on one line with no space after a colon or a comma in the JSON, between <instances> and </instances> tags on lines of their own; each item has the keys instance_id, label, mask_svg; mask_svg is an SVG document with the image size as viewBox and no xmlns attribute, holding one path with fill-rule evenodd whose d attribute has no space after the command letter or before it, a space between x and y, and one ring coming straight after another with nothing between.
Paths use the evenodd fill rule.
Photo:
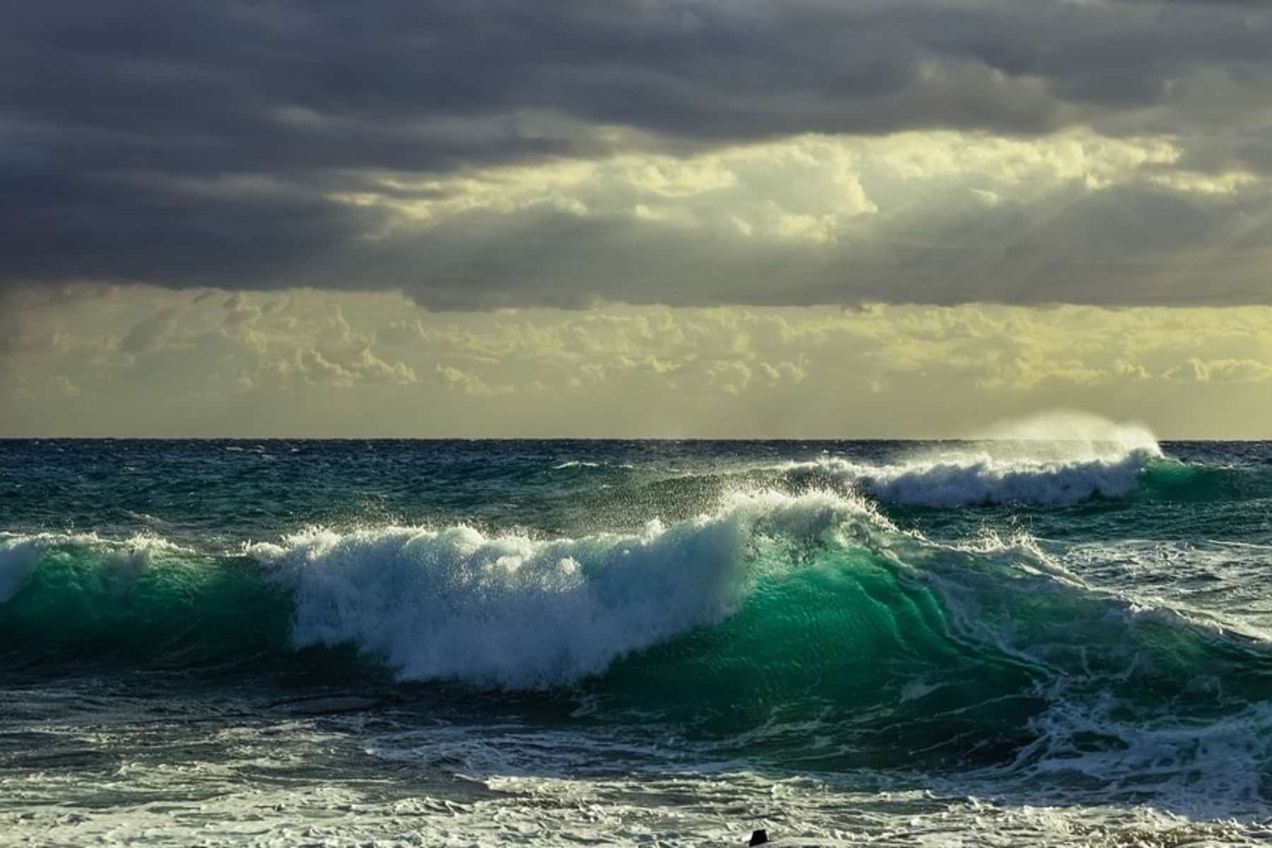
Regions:
<instances>
[{"instance_id":1,"label":"smooth glowing emerald face of front wave, without its foam-streaked shoulder","mask_svg":"<svg viewBox=\"0 0 1272 848\"><path fill-rule=\"evenodd\" d=\"M787 554L762 548L762 558ZM917 765L917 750L929 768L953 765L1029 740L1027 722L1046 703L1043 664L963 632L895 552L804 553L729 620L621 660L594 689L809 767Z\"/></svg>"}]
</instances>

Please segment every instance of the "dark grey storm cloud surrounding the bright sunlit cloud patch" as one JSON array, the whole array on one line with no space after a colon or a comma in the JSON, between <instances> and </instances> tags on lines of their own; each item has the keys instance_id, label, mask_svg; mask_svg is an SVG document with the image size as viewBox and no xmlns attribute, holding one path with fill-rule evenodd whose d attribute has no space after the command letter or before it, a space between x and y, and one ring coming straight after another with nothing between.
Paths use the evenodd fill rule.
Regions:
<instances>
[{"instance_id":1,"label":"dark grey storm cloud surrounding the bright sunlit cloud patch","mask_svg":"<svg viewBox=\"0 0 1272 848\"><path fill-rule=\"evenodd\" d=\"M1272 85L1264 9L4 0L0 281L401 286L440 306L1089 299L1080 281L1032 289L1005 272L951 287L915 270L932 267L922 249L848 262L618 219L466 219L380 238L383 212L331 193L389 172L603 153L600 125L684 151L794 132L1089 123L1179 133L1198 169L1268 170L1266 128L1241 130ZM1154 221L1172 209L1160 200L1127 202ZM1203 212L1203 231L1236 214Z\"/></svg>"}]
</instances>

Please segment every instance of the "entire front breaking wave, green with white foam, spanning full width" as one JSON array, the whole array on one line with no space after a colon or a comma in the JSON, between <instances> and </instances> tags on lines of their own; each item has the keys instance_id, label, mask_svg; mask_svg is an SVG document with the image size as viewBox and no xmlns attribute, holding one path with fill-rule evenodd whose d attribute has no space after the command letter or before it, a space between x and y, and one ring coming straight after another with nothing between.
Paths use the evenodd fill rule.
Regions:
<instances>
[{"instance_id":1,"label":"entire front breaking wave, green with white foam, spanning full width","mask_svg":"<svg viewBox=\"0 0 1272 848\"><path fill-rule=\"evenodd\" d=\"M9 667L304 662L347 684L352 662L581 695L598 721L818 768L1089 772L1132 795L1203 773L1247 801L1267 777L1268 643L1089 587L1034 545L936 544L827 492L562 539L310 529L200 553L8 535L0 591Z\"/></svg>"}]
</instances>

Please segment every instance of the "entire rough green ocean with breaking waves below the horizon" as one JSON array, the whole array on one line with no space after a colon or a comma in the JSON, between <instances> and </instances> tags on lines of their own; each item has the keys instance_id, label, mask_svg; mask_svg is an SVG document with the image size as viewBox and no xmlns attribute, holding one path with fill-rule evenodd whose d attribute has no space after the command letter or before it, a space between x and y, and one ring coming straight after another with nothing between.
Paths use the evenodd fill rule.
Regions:
<instances>
[{"instance_id":1,"label":"entire rough green ocean with breaking waves below the horizon","mask_svg":"<svg viewBox=\"0 0 1272 848\"><path fill-rule=\"evenodd\" d=\"M1272 444L1052 425L3 441L0 843L1272 840Z\"/></svg>"}]
</instances>

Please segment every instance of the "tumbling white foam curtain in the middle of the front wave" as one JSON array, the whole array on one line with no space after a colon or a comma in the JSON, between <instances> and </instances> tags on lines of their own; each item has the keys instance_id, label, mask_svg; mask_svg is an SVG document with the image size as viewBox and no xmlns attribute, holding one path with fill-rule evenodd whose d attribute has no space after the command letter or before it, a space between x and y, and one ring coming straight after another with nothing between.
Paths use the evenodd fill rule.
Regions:
<instances>
[{"instance_id":1,"label":"tumbling white foam curtain in the middle of the front wave","mask_svg":"<svg viewBox=\"0 0 1272 848\"><path fill-rule=\"evenodd\" d=\"M248 553L294 592L296 646L355 643L399 678L534 688L733 613L756 535L815 538L875 516L828 493L736 495L637 534L542 540L468 526L312 529Z\"/></svg>"}]
</instances>

